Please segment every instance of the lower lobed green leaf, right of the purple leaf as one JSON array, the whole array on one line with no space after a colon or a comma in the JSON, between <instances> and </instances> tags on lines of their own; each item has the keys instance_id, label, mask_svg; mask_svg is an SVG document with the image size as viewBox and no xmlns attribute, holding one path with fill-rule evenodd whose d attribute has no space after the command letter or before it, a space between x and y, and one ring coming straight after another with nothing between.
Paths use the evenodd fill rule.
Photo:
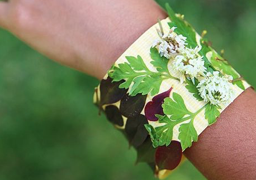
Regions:
<instances>
[{"instance_id":1,"label":"lower lobed green leaf, right of the purple leaf","mask_svg":"<svg viewBox=\"0 0 256 180\"><path fill-rule=\"evenodd\" d=\"M164 99L164 104L162 106L165 115L156 115L159 119L159 123L163 125L154 128L151 125L146 124L145 127L150 134L153 146L158 147L161 145L168 146L173 137L173 128L176 125L181 124L181 127L179 127L178 139L181 141L182 150L185 150L186 148L191 147L192 142L197 141L198 135L193 125L193 121L196 118L196 115L205 109L205 106L195 113L192 113L186 108L181 95L173 93L172 98L173 99ZM167 115L170 115L170 118L168 118ZM187 120L189 121L187 122ZM185 121L186 123L184 123Z\"/></svg>"}]
</instances>

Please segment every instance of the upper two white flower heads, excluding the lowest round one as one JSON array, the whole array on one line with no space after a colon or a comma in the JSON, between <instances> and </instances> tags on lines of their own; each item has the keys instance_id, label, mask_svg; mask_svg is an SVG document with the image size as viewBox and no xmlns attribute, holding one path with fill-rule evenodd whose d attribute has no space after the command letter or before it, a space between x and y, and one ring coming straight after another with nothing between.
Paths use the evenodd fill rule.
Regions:
<instances>
[{"instance_id":1,"label":"upper two white flower heads, excluding the lowest round one","mask_svg":"<svg viewBox=\"0 0 256 180\"><path fill-rule=\"evenodd\" d=\"M186 75L195 84L195 77L205 76L206 67L204 66L203 57L198 55L201 47L188 48L186 47L186 39L182 35L177 35L172 27L169 33L162 35L159 32L161 40L156 40L153 47L158 48L160 56L173 60L174 69ZM181 82L183 78L181 77Z\"/></svg>"}]
</instances>

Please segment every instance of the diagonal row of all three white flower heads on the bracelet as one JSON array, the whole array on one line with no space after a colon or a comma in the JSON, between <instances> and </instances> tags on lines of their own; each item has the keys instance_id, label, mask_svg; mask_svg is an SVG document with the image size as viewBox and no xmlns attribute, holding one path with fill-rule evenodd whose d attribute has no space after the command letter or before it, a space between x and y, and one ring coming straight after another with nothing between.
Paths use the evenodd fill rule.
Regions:
<instances>
[{"instance_id":1,"label":"diagonal row of all three white flower heads on the bracelet","mask_svg":"<svg viewBox=\"0 0 256 180\"><path fill-rule=\"evenodd\" d=\"M172 60L172 67L177 70L177 76L183 83L185 76L195 84L195 78L199 80L197 89L205 102L214 105L227 104L234 97L232 89L232 76L220 75L219 71L206 71L203 56L199 55L201 47L186 47L186 39L182 35L174 32L176 27L172 27L169 33L158 31L160 40L153 43L157 47L160 56ZM207 73L206 73L207 72Z\"/></svg>"}]
</instances>

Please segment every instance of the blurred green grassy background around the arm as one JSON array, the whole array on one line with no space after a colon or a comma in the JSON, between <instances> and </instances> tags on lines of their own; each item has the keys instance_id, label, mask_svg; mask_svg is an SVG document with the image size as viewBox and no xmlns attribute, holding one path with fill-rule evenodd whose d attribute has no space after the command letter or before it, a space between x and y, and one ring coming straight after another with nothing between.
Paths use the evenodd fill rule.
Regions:
<instances>
[{"instance_id":1,"label":"blurred green grassy background around the arm","mask_svg":"<svg viewBox=\"0 0 256 180\"><path fill-rule=\"evenodd\" d=\"M253 86L256 1L169 2ZM92 104L98 80L48 60L0 30L0 180L155 179ZM186 162L167 179L205 179Z\"/></svg>"}]
</instances>

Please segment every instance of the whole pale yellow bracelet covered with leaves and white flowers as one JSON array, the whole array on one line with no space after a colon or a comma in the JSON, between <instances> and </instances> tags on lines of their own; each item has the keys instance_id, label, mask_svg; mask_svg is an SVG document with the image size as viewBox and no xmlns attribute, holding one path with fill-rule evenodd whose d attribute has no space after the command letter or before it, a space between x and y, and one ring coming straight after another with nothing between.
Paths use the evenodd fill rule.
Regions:
<instances>
[{"instance_id":1,"label":"whole pale yellow bracelet covered with leaves and white flowers","mask_svg":"<svg viewBox=\"0 0 256 180\"><path fill-rule=\"evenodd\" d=\"M184 16L169 17L136 40L96 87L94 103L155 175L165 177L182 152L250 85Z\"/></svg>"}]
</instances>

